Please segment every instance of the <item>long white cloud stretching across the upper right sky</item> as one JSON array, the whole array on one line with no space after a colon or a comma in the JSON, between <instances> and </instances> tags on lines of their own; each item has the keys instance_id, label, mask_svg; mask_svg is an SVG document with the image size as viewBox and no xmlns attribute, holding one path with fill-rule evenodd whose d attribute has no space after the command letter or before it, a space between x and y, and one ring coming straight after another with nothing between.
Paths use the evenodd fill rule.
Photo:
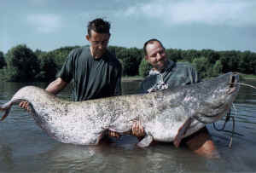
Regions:
<instances>
[{"instance_id":1,"label":"long white cloud stretching across the upper right sky","mask_svg":"<svg viewBox=\"0 0 256 173\"><path fill-rule=\"evenodd\" d=\"M154 0L118 13L162 20L172 25L256 26L256 1L253 0Z\"/></svg>"}]
</instances>

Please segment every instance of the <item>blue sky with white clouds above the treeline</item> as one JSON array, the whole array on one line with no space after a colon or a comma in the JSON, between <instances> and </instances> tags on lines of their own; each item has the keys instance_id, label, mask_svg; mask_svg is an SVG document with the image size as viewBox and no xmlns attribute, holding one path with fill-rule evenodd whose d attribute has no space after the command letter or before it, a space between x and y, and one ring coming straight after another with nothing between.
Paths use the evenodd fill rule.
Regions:
<instances>
[{"instance_id":1,"label":"blue sky with white clouds above the treeline","mask_svg":"<svg viewBox=\"0 0 256 173\"><path fill-rule=\"evenodd\" d=\"M83 46L87 24L111 23L109 45L256 52L255 0L0 0L0 51Z\"/></svg>"}]
</instances>

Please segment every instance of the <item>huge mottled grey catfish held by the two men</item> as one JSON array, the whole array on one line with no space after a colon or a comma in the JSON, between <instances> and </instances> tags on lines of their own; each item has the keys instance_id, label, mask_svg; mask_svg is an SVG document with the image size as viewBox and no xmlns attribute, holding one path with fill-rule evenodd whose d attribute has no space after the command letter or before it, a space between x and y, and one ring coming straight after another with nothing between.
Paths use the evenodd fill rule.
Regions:
<instances>
[{"instance_id":1,"label":"huge mottled grey catfish held by the two men","mask_svg":"<svg viewBox=\"0 0 256 173\"><path fill-rule=\"evenodd\" d=\"M189 118L192 123L183 137L222 118L240 87L229 84L230 78L232 82L239 82L238 75L230 72L175 89L90 101L66 101L44 89L26 86L0 106L0 110L5 111L6 117L13 104L29 101L32 117L49 136L79 145L98 144L106 130L120 134L130 132L133 122L138 120L146 133L139 146L147 147L153 140L173 141Z\"/></svg>"}]
</instances>

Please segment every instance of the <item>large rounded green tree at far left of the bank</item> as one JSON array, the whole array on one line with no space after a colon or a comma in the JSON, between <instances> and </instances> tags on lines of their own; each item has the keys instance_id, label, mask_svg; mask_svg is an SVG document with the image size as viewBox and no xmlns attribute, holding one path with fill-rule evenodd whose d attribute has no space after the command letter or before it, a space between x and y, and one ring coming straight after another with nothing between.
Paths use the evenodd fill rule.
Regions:
<instances>
[{"instance_id":1,"label":"large rounded green tree at far left of the bank","mask_svg":"<svg viewBox=\"0 0 256 173\"><path fill-rule=\"evenodd\" d=\"M9 81L35 81L35 77L40 70L38 57L25 44L9 49L6 54L6 62L7 66L3 72L7 75L6 79Z\"/></svg>"}]
</instances>

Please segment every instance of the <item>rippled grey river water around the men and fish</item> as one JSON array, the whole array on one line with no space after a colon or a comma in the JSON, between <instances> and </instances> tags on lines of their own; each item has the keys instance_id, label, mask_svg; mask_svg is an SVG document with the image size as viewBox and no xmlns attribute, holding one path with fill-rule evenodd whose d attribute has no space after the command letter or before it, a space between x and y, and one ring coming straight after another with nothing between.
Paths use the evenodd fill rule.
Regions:
<instances>
[{"instance_id":1,"label":"rippled grey river water around the men and fish","mask_svg":"<svg viewBox=\"0 0 256 173\"><path fill-rule=\"evenodd\" d=\"M123 82L124 94L137 92L139 83ZM256 85L253 80L245 83ZM25 85L28 84L0 83L0 104ZM59 96L70 99L70 89L61 91ZM236 117L232 147L228 147L231 121L224 132L208 124L221 158L206 159L172 143L137 148L137 138L133 136L110 139L94 147L60 143L15 106L0 123L0 172L256 172L256 89L241 86L235 107L231 111ZM224 120L219 121L218 127L223 123Z\"/></svg>"}]
</instances>

